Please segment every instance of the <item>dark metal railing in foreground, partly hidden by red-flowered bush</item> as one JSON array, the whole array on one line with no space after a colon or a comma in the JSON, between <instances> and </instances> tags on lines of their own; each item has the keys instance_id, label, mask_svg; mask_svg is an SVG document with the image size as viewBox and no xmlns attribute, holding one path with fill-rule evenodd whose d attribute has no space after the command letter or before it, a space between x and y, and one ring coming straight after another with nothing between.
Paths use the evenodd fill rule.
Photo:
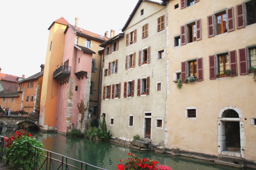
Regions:
<instances>
[{"instance_id":1,"label":"dark metal railing in foreground, partly hidden by red-flowered bush","mask_svg":"<svg viewBox=\"0 0 256 170\"><path fill-rule=\"evenodd\" d=\"M6 152L5 149L5 141L4 141L4 136L0 136L1 139L1 143L0 143L0 161L5 161L7 165L12 164L11 162L9 162L7 158L8 153ZM78 161L76 159L73 158L69 158L67 156L55 153L55 152L51 152L48 151L46 149L41 149L35 146L32 146L33 148L35 148L34 151L34 162L33 162L33 170L36 169L88 169L88 167L92 167L92 168L96 168L96 169L102 169L102 170L107 170L104 168L100 168L82 161ZM45 152L45 155L38 153L39 150L42 150ZM59 159L58 159L59 158ZM31 158L32 159L32 158ZM69 163L68 163L69 162Z\"/></svg>"}]
</instances>

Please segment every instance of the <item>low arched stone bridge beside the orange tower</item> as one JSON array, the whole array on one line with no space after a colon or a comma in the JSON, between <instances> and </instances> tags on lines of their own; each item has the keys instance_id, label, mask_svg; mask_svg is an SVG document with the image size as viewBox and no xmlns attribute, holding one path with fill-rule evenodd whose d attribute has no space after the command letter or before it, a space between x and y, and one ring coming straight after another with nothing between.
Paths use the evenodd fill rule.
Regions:
<instances>
[{"instance_id":1,"label":"low arched stone bridge beside the orange tower","mask_svg":"<svg viewBox=\"0 0 256 170\"><path fill-rule=\"evenodd\" d=\"M0 116L1 124L5 124L8 129L20 128L27 129L28 127L35 126L38 128L39 117L27 116Z\"/></svg>"}]
</instances>

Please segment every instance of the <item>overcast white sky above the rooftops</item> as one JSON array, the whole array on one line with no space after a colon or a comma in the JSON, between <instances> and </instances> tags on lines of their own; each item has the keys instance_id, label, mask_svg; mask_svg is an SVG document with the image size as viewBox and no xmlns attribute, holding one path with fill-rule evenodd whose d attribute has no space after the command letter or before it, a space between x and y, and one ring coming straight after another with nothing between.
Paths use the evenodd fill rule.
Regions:
<instances>
[{"instance_id":1,"label":"overcast white sky above the rooftops","mask_svg":"<svg viewBox=\"0 0 256 170\"><path fill-rule=\"evenodd\" d=\"M154 0L162 2L160 0ZM1 73L25 78L45 64L49 26L60 17L70 24L104 35L121 30L138 0L77 1L1 1L0 67Z\"/></svg>"}]
</instances>

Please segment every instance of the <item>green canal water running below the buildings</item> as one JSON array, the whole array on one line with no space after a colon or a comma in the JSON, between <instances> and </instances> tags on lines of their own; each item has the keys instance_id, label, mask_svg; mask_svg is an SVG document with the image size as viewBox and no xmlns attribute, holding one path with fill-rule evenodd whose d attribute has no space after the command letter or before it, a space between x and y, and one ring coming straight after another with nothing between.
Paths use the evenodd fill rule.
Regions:
<instances>
[{"instance_id":1,"label":"green canal water running below the buildings","mask_svg":"<svg viewBox=\"0 0 256 170\"><path fill-rule=\"evenodd\" d=\"M154 151L140 151L108 141L95 141L87 138L69 137L57 133L42 133L30 131L30 133L41 141L46 150L53 151L73 159L77 159L94 166L105 169L117 169L116 165L121 163L120 159L130 158L128 153L135 153L139 158L148 158L158 161L159 165L168 165L173 170L231 170L236 168L215 165L209 161L173 156ZM0 135L9 137L13 130L0 127ZM90 168L89 168L90 169ZM237 169L238 170L238 169ZM249 170L249 168L244 168Z\"/></svg>"}]
</instances>

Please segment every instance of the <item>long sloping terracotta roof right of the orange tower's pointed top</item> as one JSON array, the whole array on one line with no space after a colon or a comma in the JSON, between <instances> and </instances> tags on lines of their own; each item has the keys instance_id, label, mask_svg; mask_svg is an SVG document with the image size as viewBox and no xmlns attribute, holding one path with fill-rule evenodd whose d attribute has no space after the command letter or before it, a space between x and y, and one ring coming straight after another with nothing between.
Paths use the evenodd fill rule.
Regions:
<instances>
[{"instance_id":1,"label":"long sloping terracotta roof right of the orange tower's pointed top","mask_svg":"<svg viewBox=\"0 0 256 170\"><path fill-rule=\"evenodd\" d=\"M106 41L106 40L109 39L108 37L105 37L105 36L103 36L103 35L99 35L99 34L96 34L96 33L93 33L93 32L87 31L87 30L84 30L84 29L79 28L79 27L77 27L77 30L76 30L75 27L74 27L74 25L68 24L68 26L69 26L69 28L71 28L72 31L75 32L75 33L78 33L78 34L81 33L81 35L88 36L88 37L91 37L91 38L95 38L95 39L100 40L100 41L102 41L102 42L104 42L104 41ZM68 27L67 27L67 28L68 28ZM66 28L66 30L64 31L64 33L66 33L67 28Z\"/></svg>"}]
</instances>

